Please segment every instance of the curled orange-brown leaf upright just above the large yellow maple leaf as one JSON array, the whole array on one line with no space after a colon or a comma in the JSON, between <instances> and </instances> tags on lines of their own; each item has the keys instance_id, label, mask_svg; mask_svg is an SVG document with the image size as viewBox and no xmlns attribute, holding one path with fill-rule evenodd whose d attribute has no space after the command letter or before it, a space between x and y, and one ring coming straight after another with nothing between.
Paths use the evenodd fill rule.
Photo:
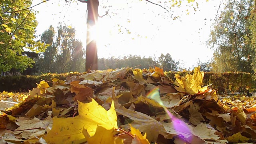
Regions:
<instances>
[{"instance_id":1,"label":"curled orange-brown leaf upright just above the large yellow maple leaf","mask_svg":"<svg viewBox=\"0 0 256 144\"><path fill-rule=\"evenodd\" d=\"M79 81L73 81L70 83L71 85L71 92L75 92L76 96L74 97L75 101L84 101L88 98L93 97L93 89L89 88L88 86L84 86L79 84Z\"/></svg>"}]
</instances>

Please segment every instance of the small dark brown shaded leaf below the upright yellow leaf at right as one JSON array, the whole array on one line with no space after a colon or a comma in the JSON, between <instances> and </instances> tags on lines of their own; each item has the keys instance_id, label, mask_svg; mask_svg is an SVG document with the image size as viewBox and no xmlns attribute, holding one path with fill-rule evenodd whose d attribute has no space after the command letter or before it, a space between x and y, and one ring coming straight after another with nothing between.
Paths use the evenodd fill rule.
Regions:
<instances>
[{"instance_id":1,"label":"small dark brown shaded leaf below the upright yellow leaf at right","mask_svg":"<svg viewBox=\"0 0 256 144\"><path fill-rule=\"evenodd\" d=\"M200 124L201 121L204 121L204 117L200 112L198 112L200 109L199 105L197 103L190 104L190 107L188 108L189 111L189 122L194 124L195 126Z\"/></svg>"}]
</instances>

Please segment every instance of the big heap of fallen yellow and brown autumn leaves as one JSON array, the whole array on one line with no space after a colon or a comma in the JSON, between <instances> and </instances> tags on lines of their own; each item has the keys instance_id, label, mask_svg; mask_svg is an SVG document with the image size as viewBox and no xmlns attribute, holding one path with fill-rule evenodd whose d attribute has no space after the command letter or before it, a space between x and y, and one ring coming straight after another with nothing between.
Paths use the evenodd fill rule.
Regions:
<instances>
[{"instance_id":1,"label":"big heap of fallen yellow and brown autumn leaves","mask_svg":"<svg viewBox=\"0 0 256 144\"><path fill-rule=\"evenodd\" d=\"M160 68L122 68L54 78L52 87L41 81L29 94L3 92L0 143L256 142L254 99L219 99L200 86L203 77L199 67L175 82Z\"/></svg>"}]
</instances>

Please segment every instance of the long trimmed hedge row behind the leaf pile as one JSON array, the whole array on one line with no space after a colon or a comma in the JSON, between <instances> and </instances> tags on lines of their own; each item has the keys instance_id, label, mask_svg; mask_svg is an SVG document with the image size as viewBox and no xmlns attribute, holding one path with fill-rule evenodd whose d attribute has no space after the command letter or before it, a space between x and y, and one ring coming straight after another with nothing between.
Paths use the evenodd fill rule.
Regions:
<instances>
[{"instance_id":1,"label":"long trimmed hedge row behind the leaf pile","mask_svg":"<svg viewBox=\"0 0 256 144\"><path fill-rule=\"evenodd\" d=\"M185 76L186 74L193 74L192 72L168 72L167 75L175 81L174 74L180 74ZM43 74L40 76L4 76L0 77L0 92L28 92L32 90L41 80L52 81L52 78L58 78L65 80L70 76L81 75L78 72L70 72L64 74ZM48 82L48 83L49 83ZM214 73L205 72L202 86L212 84L212 89L218 90L218 94L241 94L256 92L256 81L253 78L253 74L245 72L225 72ZM49 83L51 85L51 83Z\"/></svg>"}]
</instances>

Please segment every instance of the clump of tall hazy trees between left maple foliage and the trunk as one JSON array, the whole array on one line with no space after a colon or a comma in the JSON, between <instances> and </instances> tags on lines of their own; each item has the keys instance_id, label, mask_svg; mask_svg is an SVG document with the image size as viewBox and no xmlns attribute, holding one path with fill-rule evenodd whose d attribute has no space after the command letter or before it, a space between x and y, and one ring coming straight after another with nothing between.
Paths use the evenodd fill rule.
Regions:
<instances>
[{"instance_id":1,"label":"clump of tall hazy trees between left maple foliage and the trunk","mask_svg":"<svg viewBox=\"0 0 256 144\"><path fill-rule=\"evenodd\" d=\"M75 28L64 25L57 31L50 26L41 35L41 41L49 46L37 60L40 72L84 72L83 45L75 38Z\"/></svg>"}]
</instances>

